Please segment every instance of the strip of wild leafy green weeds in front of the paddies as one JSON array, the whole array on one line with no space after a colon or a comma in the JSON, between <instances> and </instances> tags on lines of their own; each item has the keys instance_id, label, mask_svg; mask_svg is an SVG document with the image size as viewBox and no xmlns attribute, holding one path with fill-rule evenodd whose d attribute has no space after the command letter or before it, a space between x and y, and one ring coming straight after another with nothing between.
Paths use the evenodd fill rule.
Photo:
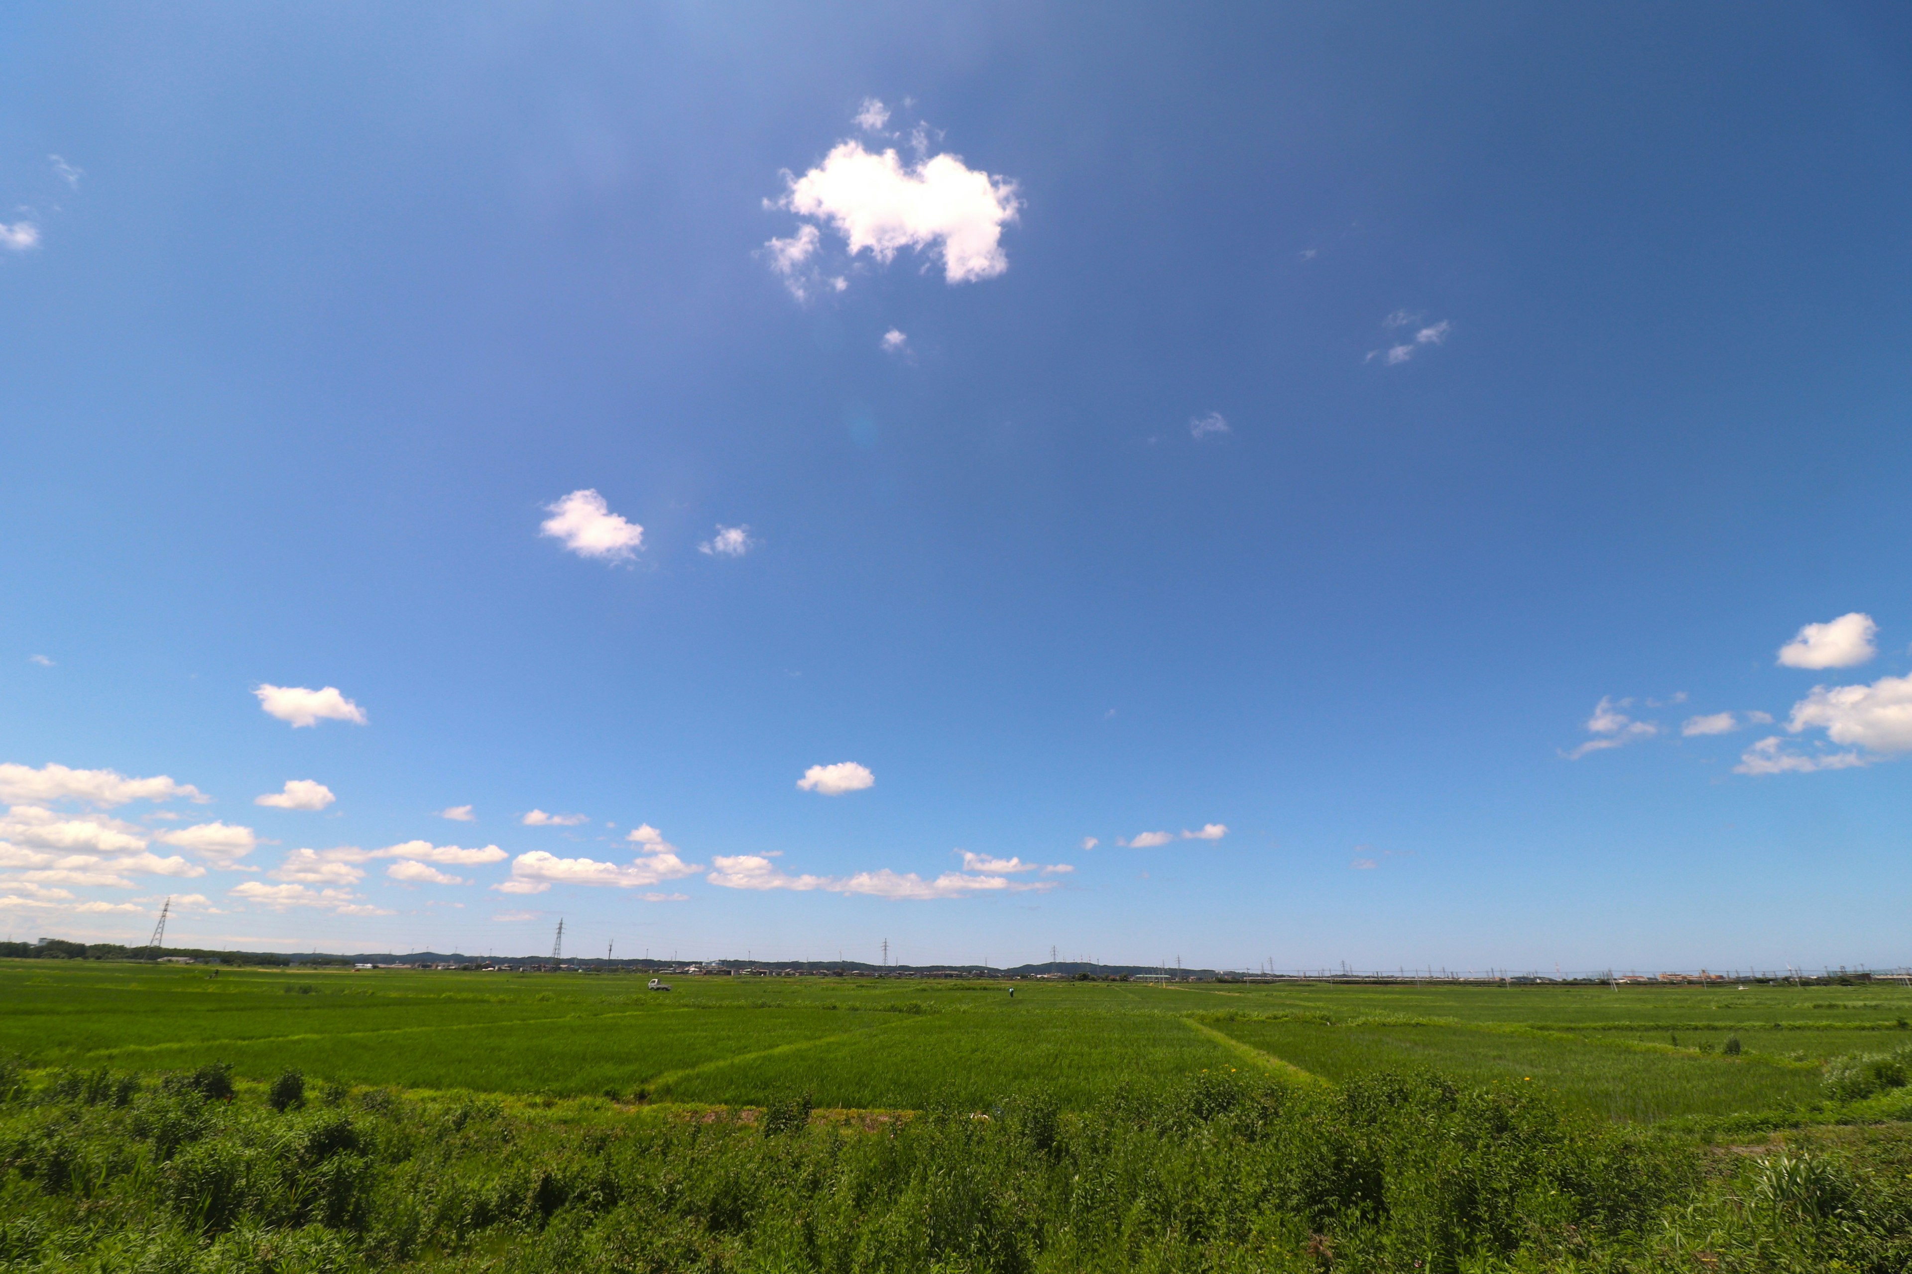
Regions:
<instances>
[{"instance_id":1,"label":"strip of wild leafy green weeds in front of the paddies","mask_svg":"<svg viewBox=\"0 0 1912 1274\"><path fill-rule=\"evenodd\" d=\"M0 1068L4 1070L4 1068ZM296 1083L294 1083L296 1079ZM1524 1085L1231 1072L880 1123L562 1125L224 1068L71 1072L0 1106L19 1270L1902 1270L1904 1165L1706 1157ZM1711 1165L1711 1167L1709 1167Z\"/></svg>"}]
</instances>

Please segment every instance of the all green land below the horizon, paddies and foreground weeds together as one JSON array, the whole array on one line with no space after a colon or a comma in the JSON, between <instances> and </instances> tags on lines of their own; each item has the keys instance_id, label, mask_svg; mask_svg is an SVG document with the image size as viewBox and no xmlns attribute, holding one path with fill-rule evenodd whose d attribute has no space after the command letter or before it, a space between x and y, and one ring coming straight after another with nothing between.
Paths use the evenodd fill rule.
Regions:
<instances>
[{"instance_id":1,"label":"all green land below the horizon, paddies and foreground weeds together","mask_svg":"<svg viewBox=\"0 0 1912 1274\"><path fill-rule=\"evenodd\" d=\"M0 963L0 1274L1912 1268L1912 991Z\"/></svg>"}]
</instances>

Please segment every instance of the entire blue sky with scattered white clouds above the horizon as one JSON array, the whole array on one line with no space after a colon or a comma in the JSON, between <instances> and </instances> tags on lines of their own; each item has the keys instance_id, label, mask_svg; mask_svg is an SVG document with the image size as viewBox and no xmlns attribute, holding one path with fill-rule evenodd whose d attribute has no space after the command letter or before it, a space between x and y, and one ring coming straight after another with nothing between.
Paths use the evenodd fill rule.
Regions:
<instances>
[{"instance_id":1,"label":"entire blue sky with scattered white clouds above the horizon","mask_svg":"<svg viewBox=\"0 0 1912 1274\"><path fill-rule=\"evenodd\" d=\"M0 923L1904 963L1908 155L1895 6L11 6Z\"/></svg>"}]
</instances>

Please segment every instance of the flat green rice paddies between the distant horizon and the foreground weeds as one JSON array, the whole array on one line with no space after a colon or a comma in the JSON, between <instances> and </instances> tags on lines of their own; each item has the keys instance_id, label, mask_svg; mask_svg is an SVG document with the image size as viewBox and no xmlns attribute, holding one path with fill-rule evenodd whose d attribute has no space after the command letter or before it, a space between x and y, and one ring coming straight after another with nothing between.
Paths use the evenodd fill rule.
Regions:
<instances>
[{"instance_id":1,"label":"flat green rice paddies between the distant horizon and the foreground weeds","mask_svg":"<svg viewBox=\"0 0 1912 1274\"><path fill-rule=\"evenodd\" d=\"M287 1068L348 1085L621 1102L981 1108L1264 1066L1535 1083L1612 1119L1797 1106L1818 1062L1912 1039L1912 989L675 978L0 965L33 1066ZM1723 1056L1728 1037L1740 1056Z\"/></svg>"}]
</instances>

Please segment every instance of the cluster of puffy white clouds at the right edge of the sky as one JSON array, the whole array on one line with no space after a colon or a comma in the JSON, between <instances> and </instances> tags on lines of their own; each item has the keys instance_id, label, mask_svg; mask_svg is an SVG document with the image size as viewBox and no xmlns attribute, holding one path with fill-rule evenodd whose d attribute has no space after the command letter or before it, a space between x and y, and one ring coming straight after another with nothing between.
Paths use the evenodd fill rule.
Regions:
<instances>
[{"instance_id":1,"label":"cluster of puffy white clouds at the right edge of the sky","mask_svg":"<svg viewBox=\"0 0 1912 1274\"><path fill-rule=\"evenodd\" d=\"M1878 651L1879 625L1862 611L1851 611L1826 623L1813 623L1780 646L1774 665L1782 669L1828 670L1853 669L1870 663ZM1686 693L1665 701L1642 699L1639 707L1665 709L1686 701ZM1635 699L1602 697L1585 722L1591 735L1562 753L1579 760L1591 753L1610 751L1662 737L1667 728L1635 714ZM1751 726L1771 726L1772 712L1734 709L1702 712L1681 722L1683 739L1736 733ZM1818 770L1855 770L1891 756L1912 753L1912 674L1881 676L1872 684L1813 686L1792 705L1786 718L1788 735L1822 730L1811 751L1790 745L1786 735L1765 735L1740 753L1734 774L1813 774Z\"/></svg>"}]
</instances>

